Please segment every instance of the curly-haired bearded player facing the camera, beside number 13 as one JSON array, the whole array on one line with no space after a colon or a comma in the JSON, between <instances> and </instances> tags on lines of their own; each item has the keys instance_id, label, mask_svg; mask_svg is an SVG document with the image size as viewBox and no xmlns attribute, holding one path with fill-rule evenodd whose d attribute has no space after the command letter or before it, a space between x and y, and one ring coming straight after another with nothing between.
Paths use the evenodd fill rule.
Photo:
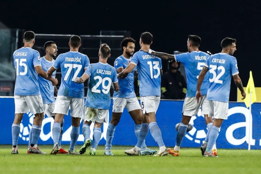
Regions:
<instances>
[{"instance_id":1,"label":"curly-haired bearded player facing the camera, beside number 13","mask_svg":"<svg viewBox=\"0 0 261 174\"><path fill-rule=\"evenodd\" d=\"M130 63L131 57L133 56L135 50L135 40L130 37L123 39L121 42L121 48L123 50L123 54L114 61L114 67L116 68L117 73L122 72L123 69L126 68ZM134 93L135 70L136 68L134 68L125 79L119 79L120 90L119 92L115 91L113 94L113 113L107 129L104 155L113 155L113 153L111 152L111 143L113 140L115 128L119 123L125 107L131 115L131 118L135 122L135 135L137 138L139 137L142 124L146 125L148 129L147 122L142 123L143 113L139 105L139 101ZM156 152L156 150L151 150L147 148L145 141L142 143L140 151L141 155L151 155Z\"/></svg>"}]
</instances>

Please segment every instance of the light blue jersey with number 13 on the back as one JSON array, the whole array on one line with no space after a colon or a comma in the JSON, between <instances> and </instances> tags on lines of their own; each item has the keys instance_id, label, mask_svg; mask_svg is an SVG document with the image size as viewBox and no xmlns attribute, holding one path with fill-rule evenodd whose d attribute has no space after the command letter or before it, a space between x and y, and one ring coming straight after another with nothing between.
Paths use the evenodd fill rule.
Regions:
<instances>
[{"instance_id":1,"label":"light blue jersey with number 13 on the back","mask_svg":"<svg viewBox=\"0 0 261 174\"><path fill-rule=\"evenodd\" d=\"M161 59L144 51L138 51L133 55L131 64L137 66L140 97L160 96Z\"/></svg>"}]
</instances>

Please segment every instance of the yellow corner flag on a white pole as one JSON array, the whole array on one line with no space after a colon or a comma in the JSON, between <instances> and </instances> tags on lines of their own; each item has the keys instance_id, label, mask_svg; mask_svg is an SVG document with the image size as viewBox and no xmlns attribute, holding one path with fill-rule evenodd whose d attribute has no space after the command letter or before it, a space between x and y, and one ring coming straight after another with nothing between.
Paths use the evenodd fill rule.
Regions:
<instances>
[{"instance_id":1,"label":"yellow corner flag on a white pole","mask_svg":"<svg viewBox=\"0 0 261 174\"><path fill-rule=\"evenodd\" d=\"M250 92L251 92L251 102L250 102ZM247 88L246 88L246 98L244 99L244 102L247 106L247 108L253 104L256 101L256 95L255 95L255 85L254 85L254 80L252 77L252 71L250 71L250 76L249 80L247 83Z\"/></svg>"}]
</instances>

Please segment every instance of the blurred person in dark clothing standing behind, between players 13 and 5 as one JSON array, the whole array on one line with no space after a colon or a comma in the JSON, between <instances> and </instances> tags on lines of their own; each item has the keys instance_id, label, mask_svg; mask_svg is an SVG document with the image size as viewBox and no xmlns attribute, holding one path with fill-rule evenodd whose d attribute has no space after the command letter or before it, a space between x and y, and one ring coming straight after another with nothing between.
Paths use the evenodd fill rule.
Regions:
<instances>
[{"instance_id":1,"label":"blurred person in dark clothing standing behind, between players 13 and 5","mask_svg":"<svg viewBox=\"0 0 261 174\"><path fill-rule=\"evenodd\" d=\"M161 78L162 99L184 99L187 92L187 84L181 75L180 62L169 61L168 72Z\"/></svg>"}]
</instances>

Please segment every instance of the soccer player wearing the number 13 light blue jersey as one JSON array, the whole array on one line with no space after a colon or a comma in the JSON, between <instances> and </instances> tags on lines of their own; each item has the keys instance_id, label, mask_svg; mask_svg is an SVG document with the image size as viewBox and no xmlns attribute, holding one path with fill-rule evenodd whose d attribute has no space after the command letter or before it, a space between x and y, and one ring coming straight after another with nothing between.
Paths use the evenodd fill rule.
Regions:
<instances>
[{"instance_id":1,"label":"soccer player wearing the number 13 light blue jersey","mask_svg":"<svg viewBox=\"0 0 261 174\"><path fill-rule=\"evenodd\" d=\"M153 36L151 33L142 33L139 40L140 47L146 47L149 49L152 44L152 38ZM144 114L143 123L147 122L149 124L148 126L151 130L151 135L160 147L159 152L154 156L168 155L155 116L160 104L160 80L162 75L161 59L144 51L138 51L133 55L131 63L121 73L119 73L119 77L124 79L136 66L140 83L140 102ZM148 126L146 124L142 125L138 142L134 148L125 151L127 155L140 154L140 149L148 134Z\"/></svg>"}]
</instances>

